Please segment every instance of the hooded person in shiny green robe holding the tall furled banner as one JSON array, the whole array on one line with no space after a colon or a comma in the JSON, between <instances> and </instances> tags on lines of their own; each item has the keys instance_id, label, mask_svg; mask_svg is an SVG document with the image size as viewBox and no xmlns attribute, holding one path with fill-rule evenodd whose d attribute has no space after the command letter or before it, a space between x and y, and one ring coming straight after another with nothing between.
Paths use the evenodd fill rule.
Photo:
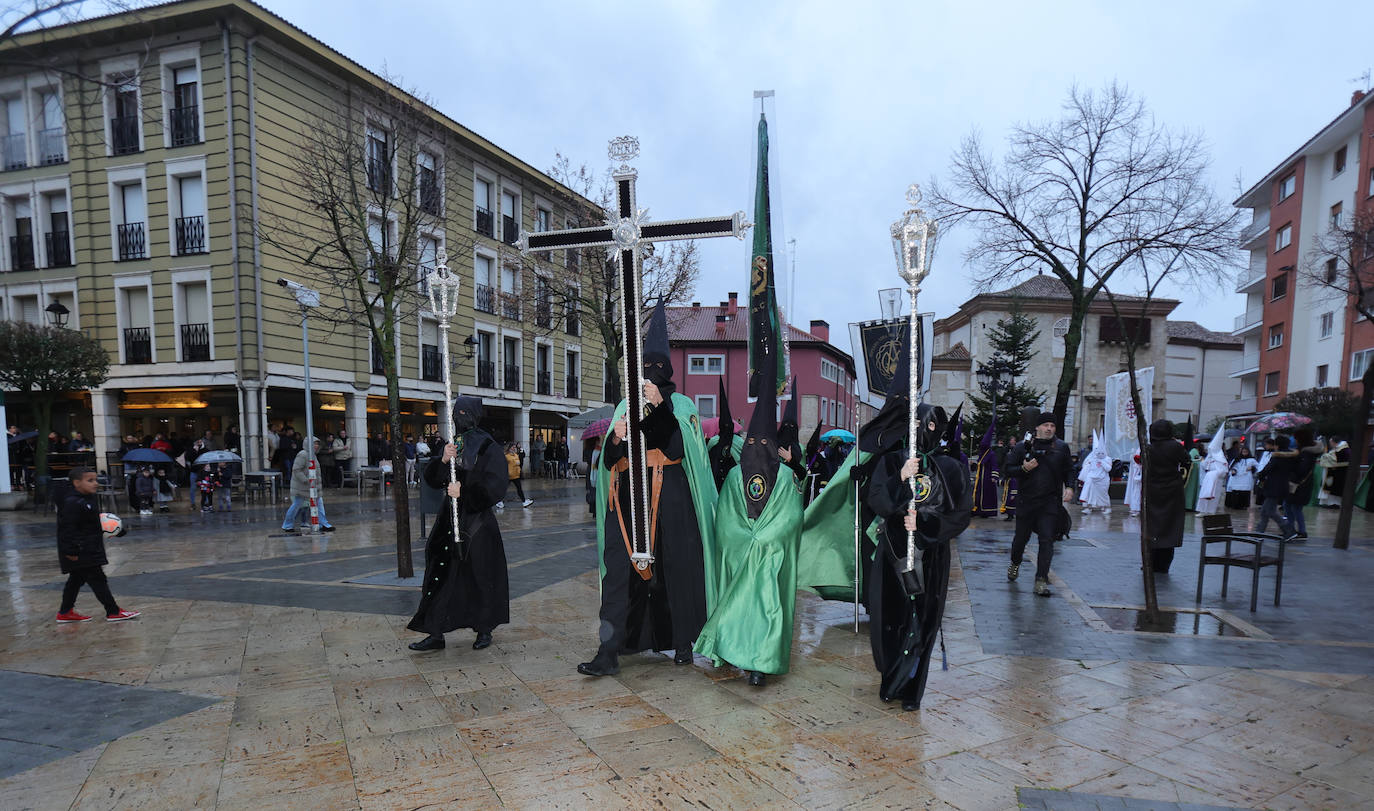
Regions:
<instances>
[{"instance_id":1,"label":"hooded person in shiny green robe holding the tall furled banner","mask_svg":"<svg viewBox=\"0 0 1374 811\"><path fill-rule=\"evenodd\" d=\"M716 503L719 599L697 638L697 653L746 671L756 687L764 674L787 672L797 605L801 481L780 460L776 403L765 373L739 465Z\"/></svg>"}]
</instances>

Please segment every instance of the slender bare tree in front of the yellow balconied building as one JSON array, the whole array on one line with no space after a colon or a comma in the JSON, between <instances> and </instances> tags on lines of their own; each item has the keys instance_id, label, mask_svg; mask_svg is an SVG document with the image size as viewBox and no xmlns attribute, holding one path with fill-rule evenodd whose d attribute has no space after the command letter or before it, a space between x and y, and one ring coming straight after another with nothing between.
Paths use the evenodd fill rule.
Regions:
<instances>
[{"instance_id":1,"label":"slender bare tree in front of the yellow balconied building","mask_svg":"<svg viewBox=\"0 0 1374 811\"><path fill-rule=\"evenodd\" d=\"M312 311L352 338L359 326L371 341L386 378L393 470L405 470L401 444L400 363L397 335L426 307L426 275L442 228L441 187L445 132L415 93L387 80L379 87L342 89L339 106L302 126L293 170L265 181L258 236L264 252L305 268L323 286ZM470 253L473 239L455 245L463 228L449 228L447 250ZM456 250L455 250L456 249ZM445 404L445 408L448 406ZM396 514L396 566L411 564L409 493L392 488Z\"/></svg>"}]
</instances>

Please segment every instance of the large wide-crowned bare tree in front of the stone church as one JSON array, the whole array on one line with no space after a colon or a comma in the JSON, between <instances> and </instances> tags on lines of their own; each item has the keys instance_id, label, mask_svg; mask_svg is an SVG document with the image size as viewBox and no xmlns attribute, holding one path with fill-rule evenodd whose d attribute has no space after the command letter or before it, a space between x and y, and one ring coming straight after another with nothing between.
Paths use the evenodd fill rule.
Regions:
<instances>
[{"instance_id":1,"label":"large wide-crowned bare tree in front of the stone church","mask_svg":"<svg viewBox=\"0 0 1374 811\"><path fill-rule=\"evenodd\" d=\"M1077 381L1088 307L1120 268L1173 256L1198 271L1235 261L1239 213L1206 186L1206 168L1200 135L1157 124L1112 82L1073 87L1058 120L1014 126L1002 159L977 133L967 136L949 183L932 183L937 214L974 227L966 258L978 268L977 283L1046 269L1069 289L1058 425Z\"/></svg>"}]
</instances>

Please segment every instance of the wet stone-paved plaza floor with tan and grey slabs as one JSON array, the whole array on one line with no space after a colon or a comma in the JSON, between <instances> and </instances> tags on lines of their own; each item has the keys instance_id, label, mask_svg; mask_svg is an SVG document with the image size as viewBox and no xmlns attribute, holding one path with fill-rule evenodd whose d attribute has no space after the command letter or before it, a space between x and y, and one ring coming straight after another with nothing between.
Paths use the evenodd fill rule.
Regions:
<instances>
[{"instance_id":1,"label":"wet stone-paved plaza floor with tan and grey slabs","mask_svg":"<svg viewBox=\"0 0 1374 811\"><path fill-rule=\"evenodd\" d=\"M84 591L96 621L56 625L52 518L0 515L0 808L1374 808L1369 514L1338 551L1334 510L1308 511L1278 608L1272 570L1252 613L1249 579L1223 599L1209 569L1210 613L1176 634L1112 624L1142 599L1121 507L1074 510L1048 599L1033 547L1009 583L1011 524L974 520L948 669L903 712L853 608L807 594L764 689L662 654L577 675L595 533L581 482L526 487L500 517L513 623L480 652L405 649L418 587L378 498L328 492L338 531L315 537L284 536L282 506L131 517L106 572L143 616L120 624ZM1194 608L1197 553L1162 606Z\"/></svg>"}]
</instances>

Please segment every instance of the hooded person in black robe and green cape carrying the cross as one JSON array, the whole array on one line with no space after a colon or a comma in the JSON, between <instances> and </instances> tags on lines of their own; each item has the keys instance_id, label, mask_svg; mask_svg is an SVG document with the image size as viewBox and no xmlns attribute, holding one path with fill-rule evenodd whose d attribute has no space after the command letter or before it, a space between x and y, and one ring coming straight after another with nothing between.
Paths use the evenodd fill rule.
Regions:
<instances>
[{"instance_id":1,"label":"hooded person in black robe and green cape carrying the cross","mask_svg":"<svg viewBox=\"0 0 1374 811\"><path fill-rule=\"evenodd\" d=\"M643 573L629 561L629 459L625 400L611 415L613 430L602 448L596 476L596 547L600 557L600 645L577 672L620 672L621 653L673 650L677 664L691 664L691 643L716 602L716 487L706 460L701 418L692 401L676 392L668 351L668 316L662 301L644 337L644 400L640 421L650 469L649 525L653 565ZM657 493L657 495L655 495Z\"/></svg>"}]
</instances>

